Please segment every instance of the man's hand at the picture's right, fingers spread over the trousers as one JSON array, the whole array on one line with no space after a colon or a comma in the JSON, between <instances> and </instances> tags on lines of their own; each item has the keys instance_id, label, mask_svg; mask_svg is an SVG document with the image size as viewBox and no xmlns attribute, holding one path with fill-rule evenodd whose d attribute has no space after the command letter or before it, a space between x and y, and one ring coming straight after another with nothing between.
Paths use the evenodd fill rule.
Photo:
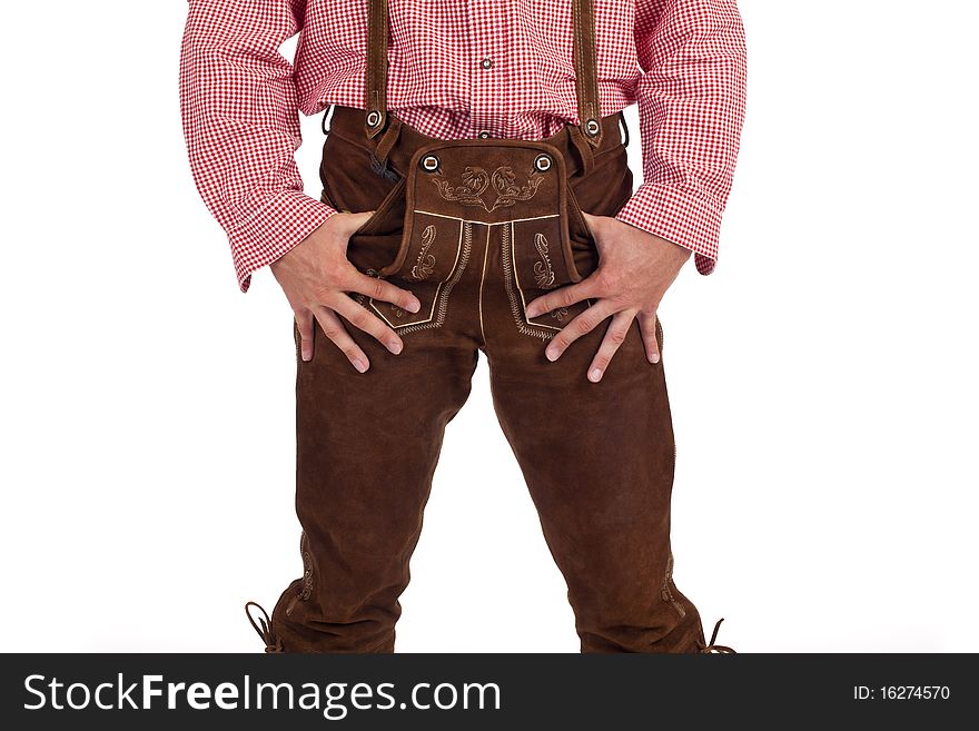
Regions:
<instances>
[{"instance_id":1,"label":"man's hand at the picture's right, fingers spread over the trousers","mask_svg":"<svg viewBox=\"0 0 979 731\"><path fill-rule=\"evenodd\" d=\"M527 305L527 317L537 317L585 299L596 300L552 338L544 354L548 360L556 360L577 338L611 317L602 345L589 366L589 381L597 383L619 346L625 342L636 317L646 358L650 363L659 363L656 309L690 258L690 249L615 218L589 214L584 217L599 249L599 268L577 284L532 300Z\"/></svg>"}]
</instances>

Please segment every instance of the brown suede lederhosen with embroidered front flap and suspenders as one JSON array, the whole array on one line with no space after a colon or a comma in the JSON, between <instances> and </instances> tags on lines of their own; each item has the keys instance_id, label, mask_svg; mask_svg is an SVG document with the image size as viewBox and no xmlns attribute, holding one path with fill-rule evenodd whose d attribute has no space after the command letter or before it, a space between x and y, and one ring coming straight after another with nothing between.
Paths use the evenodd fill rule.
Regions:
<instances>
[{"instance_id":1,"label":"brown suede lederhosen with embroidered front flap and suspenders","mask_svg":"<svg viewBox=\"0 0 979 731\"><path fill-rule=\"evenodd\" d=\"M304 574L264 628L271 651L393 651L443 433L479 352L567 582L582 651L704 646L698 611L672 577L674 445L662 363L646 360L634 324L593 384L585 375L605 325L556 363L544 356L593 303L525 314L536 296L597 267L581 210L613 216L632 194L620 117L597 115L591 1L575 0L574 17L580 127L543 141L437 140L387 112L386 2L372 2L367 109L334 111L324 200L376 211L348 256L414 292L422 310L352 295L399 333L404 352L350 327L372 363L359 374L317 326L313 359L298 362Z\"/></svg>"}]
</instances>

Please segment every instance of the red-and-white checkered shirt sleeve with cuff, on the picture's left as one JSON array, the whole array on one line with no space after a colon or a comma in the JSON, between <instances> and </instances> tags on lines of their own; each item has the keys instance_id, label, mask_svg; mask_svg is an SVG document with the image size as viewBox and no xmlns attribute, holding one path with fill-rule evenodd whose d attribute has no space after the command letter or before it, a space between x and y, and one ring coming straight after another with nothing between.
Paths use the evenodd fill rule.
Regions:
<instances>
[{"instance_id":1,"label":"red-and-white checkered shirt sleeve with cuff, on the picture's left","mask_svg":"<svg viewBox=\"0 0 979 731\"><path fill-rule=\"evenodd\" d=\"M189 0L180 110L197 189L228 235L238 285L336 209L303 192L293 66L279 46L305 0Z\"/></svg>"}]
</instances>

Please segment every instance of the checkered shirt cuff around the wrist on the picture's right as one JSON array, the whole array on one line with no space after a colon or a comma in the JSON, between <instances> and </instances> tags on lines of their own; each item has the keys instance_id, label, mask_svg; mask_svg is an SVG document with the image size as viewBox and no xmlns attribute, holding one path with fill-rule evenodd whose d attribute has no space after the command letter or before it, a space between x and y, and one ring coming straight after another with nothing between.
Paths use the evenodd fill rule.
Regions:
<instances>
[{"instance_id":1,"label":"checkered shirt cuff around the wrist on the picture's right","mask_svg":"<svg viewBox=\"0 0 979 731\"><path fill-rule=\"evenodd\" d=\"M672 186L643 184L615 218L690 249L701 274L714 270L721 211L702 198Z\"/></svg>"}]
</instances>

